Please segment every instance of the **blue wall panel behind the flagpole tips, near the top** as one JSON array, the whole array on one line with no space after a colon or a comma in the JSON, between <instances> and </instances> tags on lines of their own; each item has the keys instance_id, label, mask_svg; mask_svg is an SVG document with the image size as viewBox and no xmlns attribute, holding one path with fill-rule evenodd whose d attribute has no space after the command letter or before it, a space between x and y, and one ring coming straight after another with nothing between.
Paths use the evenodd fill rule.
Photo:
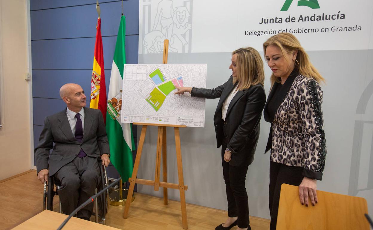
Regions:
<instances>
[{"instance_id":1,"label":"blue wall panel behind the flagpole tips, near the top","mask_svg":"<svg viewBox=\"0 0 373 230\"><path fill-rule=\"evenodd\" d=\"M120 4L110 2L100 5L102 36L118 34L122 13ZM123 1L126 35L138 34L138 4L138 0ZM95 5L32 11L31 40L96 37L96 23Z\"/></svg>"}]
</instances>

